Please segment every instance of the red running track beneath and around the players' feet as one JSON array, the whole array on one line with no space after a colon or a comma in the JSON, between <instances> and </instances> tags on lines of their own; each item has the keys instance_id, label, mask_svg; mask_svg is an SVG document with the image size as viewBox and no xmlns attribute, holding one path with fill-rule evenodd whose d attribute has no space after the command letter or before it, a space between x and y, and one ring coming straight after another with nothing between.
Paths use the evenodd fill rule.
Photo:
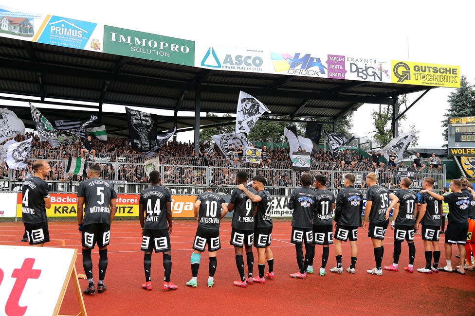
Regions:
<instances>
[{"instance_id":1,"label":"red running track beneath and around the players' feet","mask_svg":"<svg viewBox=\"0 0 475 316\"><path fill-rule=\"evenodd\" d=\"M163 256L152 254L152 291L145 291L141 230L137 221L115 221L112 224L109 246L109 266L105 283L107 291L84 296L90 316L104 315L475 315L475 271L466 276L455 273L426 275L384 271L382 276L369 275L367 269L374 267L373 247L367 232L359 229L358 262L356 273L333 274L329 268L336 265L333 246L330 246L327 275L308 275L305 280L292 279L289 274L297 271L295 248L289 243L290 221L274 221L272 250L274 252L274 280L264 284L238 288L233 281L239 279L234 248L229 245L231 222L221 223L221 244L218 252L218 269L215 285L206 286L208 258L201 257L198 287L185 285L191 278L190 255L197 223L174 221L171 234L172 273L171 281L179 286L175 291L162 291L164 277ZM81 236L75 222L50 222L50 247L77 248L76 268L83 272ZM25 246L19 240L23 235L22 223L0 223L0 244ZM443 235L442 241L443 241ZM393 232L388 229L385 239L383 265L392 263ZM443 247L443 244L441 243ZM416 235L415 268L425 266L424 248L420 235ZM443 248L442 248L443 249ZM316 247L314 269L321 263L321 247ZM454 247L454 256L458 250ZM257 252L254 249L255 263ZM97 283L97 247L92 250L94 281ZM244 259L245 262L245 259ZM445 265L445 256L440 258ZM350 263L349 243L343 244L343 266ZM408 263L407 244L402 245L399 261L403 267ZM52 263L54 264L54 263ZM455 267L459 260L452 258ZM247 273L247 268L245 269ZM267 271L267 266L266 266ZM255 264L254 274L257 274ZM86 280L79 280L87 287ZM70 284L60 314L76 315L77 301ZM0 312L1 314L1 312Z\"/></svg>"}]
</instances>

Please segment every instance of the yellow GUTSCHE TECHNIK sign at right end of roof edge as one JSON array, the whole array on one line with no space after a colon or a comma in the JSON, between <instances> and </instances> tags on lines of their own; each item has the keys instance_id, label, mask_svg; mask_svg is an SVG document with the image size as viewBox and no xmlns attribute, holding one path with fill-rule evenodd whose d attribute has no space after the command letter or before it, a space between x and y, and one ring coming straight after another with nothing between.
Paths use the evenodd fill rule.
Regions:
<instances>
[{"instance_id":1,"label":"yellow GUTSCHE TECHNIK sign at right end of roof edge","mask_svg":"<svg viewBox=\"0 0 475 316\"><path fill-rule=\"evenodd\" d=\"M392 60L392 83L460 88L460 66Z\"/></svg>"}]
</instances>

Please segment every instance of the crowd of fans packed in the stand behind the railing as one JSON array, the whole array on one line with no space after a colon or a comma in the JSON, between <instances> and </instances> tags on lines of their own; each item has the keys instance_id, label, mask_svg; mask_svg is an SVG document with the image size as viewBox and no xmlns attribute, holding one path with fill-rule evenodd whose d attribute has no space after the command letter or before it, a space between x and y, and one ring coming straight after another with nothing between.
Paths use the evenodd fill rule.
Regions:
<instances>
[{"instance_id":1,"label":"crowd of fans packed in the stand behind the railing","mask_svg":"<svg viewBox=\"0 0 475 316\"><path fill-rule=\"evenodd\" d=\"M30 137L33 137L33 141L27 168L13 170L10 175L8 166L3 163L1 168L3 178L11 176L12 179L24 180L33 175L32 160L47 159L50 161L52 168L48 180L73 182L84 179L81 176L68 174L66 170L66 164L70 156L80 157L80 143L52 148L49 142L40 141L39 137L33 133L26 133L25 136L19 135L15 140L21 141ZM201 144L199 152L196 153L191 143L170 141L157 153L144 154L134 151L128 138L113 137L109 138L107 142L92 139L95 149L94 162L101 164L103 168L102 177L108 180L146 184L148 180L142 164L151 157L159 157L160 163L164 165L164 185L235 186L237 185L237 172L240 170L246 170L251 176L265 176L268 186L293 187L299 183L299 173L296 173L295 179L293 179L292 161L289 158L289 149L287 148L274 147L267 149L271 162L260 165L245 163L245 156L242 160L237 160L238 149L236 148L233 148L234 151L228 151L227 153L230 156L226 156L216 144ZM363 155L352 154L351 163L348 163L348 161L342 163L344 156L344 153L342 153L340 157L334 158L330 150L320 149L311 156L311 173L323 173L330 176L331 171L344 171L343 173L335 173L337 176L334 177L333 183L328 183L329 187L339 188L342 185L342 174L358 172L362 174L362 179L357 185L365 186L365 175L375 171L372 159ZM86 156L86 158L92 160L92 157ZM379 182L382 185L390 187L398 182L395 179L394 171L388 168L386 164L378 166L376 169L380 177Z\"/></svg>"}]
</instances>

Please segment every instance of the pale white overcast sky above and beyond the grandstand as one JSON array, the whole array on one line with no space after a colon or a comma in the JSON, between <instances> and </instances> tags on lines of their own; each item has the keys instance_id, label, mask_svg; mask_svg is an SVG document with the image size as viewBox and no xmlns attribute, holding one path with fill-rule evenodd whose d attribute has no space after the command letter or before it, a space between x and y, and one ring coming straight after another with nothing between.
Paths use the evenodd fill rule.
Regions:
<instances>
[{"instance_id":1,"label":"pale white overcast sky above and beyond the grandstand","mask_svg":"<svg viewBox=\"0 0 475 316\"><path fill-rule=\"evenodd\" d=\"M475 84L472 0L22 0L8 6L214 45L457 65ZM407 111L400 131L414 123L419 147L441 146L441 121L454 91L429 91ZM409 94L407 105L420 94ZM371 111L378 106L362 105L350 132L371 137ZM178 134L178 140L190 137Z\"/></svg>"}]
</instances>

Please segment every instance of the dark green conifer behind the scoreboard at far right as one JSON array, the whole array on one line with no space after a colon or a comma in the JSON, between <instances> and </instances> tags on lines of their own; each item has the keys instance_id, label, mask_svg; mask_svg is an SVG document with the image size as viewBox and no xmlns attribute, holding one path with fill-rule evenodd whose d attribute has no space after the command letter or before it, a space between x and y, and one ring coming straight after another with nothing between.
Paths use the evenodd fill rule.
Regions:
<instances>
[{"instance_id":1,"label":"dark green conifer behind the scoreboard at far right","mask_svg":"<svg viewBox=\"0 0 475 316\"><path fill-rule=\"evenodd\" d=\"M475 86L470 85L465 76L460 77L460 88L455 89L447 98L449 108L445 117L449 116L475 116ZM447 120L442 121L445 127L442 133L445 140L445 147L448 146Z\"/></svg>"}]
</instances>

